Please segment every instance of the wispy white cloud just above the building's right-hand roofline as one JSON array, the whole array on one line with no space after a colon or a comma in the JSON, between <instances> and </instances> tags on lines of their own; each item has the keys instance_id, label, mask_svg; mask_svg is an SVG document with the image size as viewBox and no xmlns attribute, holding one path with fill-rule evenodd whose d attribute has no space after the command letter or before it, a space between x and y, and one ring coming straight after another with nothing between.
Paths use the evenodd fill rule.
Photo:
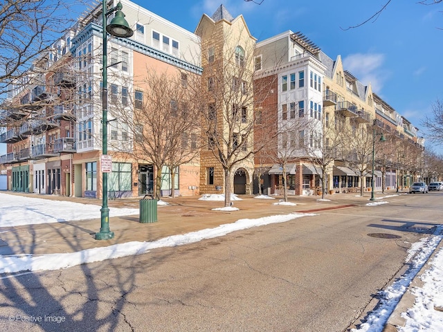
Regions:
<instances>
[{"instance_id":1,"label":"wispy white cloud just above the building's right-hand roofline","mask_svg":"<svg viewBox=\"0 0 443 332\"><path fill-rule=\"evenodd\" d=\"M385 56L380 53L356 53L343 58L343 68L350 71L365 85L369 83L372 90L381 91L387 74L382 68Z\"/></svg>"}]
</instances>

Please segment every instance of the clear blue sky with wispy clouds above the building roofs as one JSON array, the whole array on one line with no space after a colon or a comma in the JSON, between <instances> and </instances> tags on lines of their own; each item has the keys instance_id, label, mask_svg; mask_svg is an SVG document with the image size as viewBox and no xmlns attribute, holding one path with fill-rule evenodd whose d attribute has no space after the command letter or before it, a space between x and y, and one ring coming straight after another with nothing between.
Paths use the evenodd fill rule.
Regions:
<instances>
[{"instance_id":1,"label":"clear blue sky with wispy clouds above the building roofs","mask_svg":"<svg viewBox=\"0 0 443 332\"><path fill-rule=\"evenodd\" d=\"M387 0L264 0L260 6L243 0L132 1L192 32L201 15L213 15L221 3L233 17L244 16L258 41L301 31L332 59L341 55L346 70L363 84L370 82L425 138L420 122L435 100L443 100L443 4L392 0L377 19L344 30L371 17ZM1 144L0 154L5 153Z\"/></svg>"}]
</instances>

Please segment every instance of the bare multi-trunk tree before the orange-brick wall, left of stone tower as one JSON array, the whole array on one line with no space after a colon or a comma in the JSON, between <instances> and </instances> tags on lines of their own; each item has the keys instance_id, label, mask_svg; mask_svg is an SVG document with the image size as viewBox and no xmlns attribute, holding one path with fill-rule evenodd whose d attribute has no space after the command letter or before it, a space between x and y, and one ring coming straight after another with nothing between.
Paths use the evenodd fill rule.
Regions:
<instances>
[{"instance_id":1,"label":"bare multi-trunk tree before the orange-brick wall, left of stone tower","mask_svg":"<svg viewBox=\"0 0 443 332\"><path fill-rule=\"evenodd\" d=\"M169 167L174 196L175 170L198 156L199 108L193 102L194 90L189 89L187 75L147 68L143 76L135 78L134 111L125 107L114 109L118 122L124 124L128 136L134 138L133 147L128 149L116 142L114 149L154 165L156 199L161 196L163 166Z\"/></svg>"}]
</instances>

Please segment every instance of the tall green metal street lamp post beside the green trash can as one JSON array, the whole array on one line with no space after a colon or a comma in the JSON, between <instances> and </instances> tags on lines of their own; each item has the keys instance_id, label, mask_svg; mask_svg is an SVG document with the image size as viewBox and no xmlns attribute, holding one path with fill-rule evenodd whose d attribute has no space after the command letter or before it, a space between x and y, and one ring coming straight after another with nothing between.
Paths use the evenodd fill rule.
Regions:
<instances>
[{"instance_id":1,"label":"tall green metal street lamp post beside the green trash can","mask_svg":"<svg viewBox=\"0 0 443 332\"><path fill-rule=\"evenodd\" d=\"M108 132L107 132L107 109L108 109L108 88L107 88L107 33L114 37L128 38L134 35L134 31L129 28L129 24L122 12L122 4L107 10L106 0L102 0L102 26L103 26L103 87L102 87L102 156L108 154ZM116 12L109 25L107 17ZM105 28L106 27L106 28ZM100 209L100 232L96 233L96 240L109 240L114 238L114 232L109 230L109 208L108 208L108 174L102 172L102 208Z\"/></svg>"}]
</instances>

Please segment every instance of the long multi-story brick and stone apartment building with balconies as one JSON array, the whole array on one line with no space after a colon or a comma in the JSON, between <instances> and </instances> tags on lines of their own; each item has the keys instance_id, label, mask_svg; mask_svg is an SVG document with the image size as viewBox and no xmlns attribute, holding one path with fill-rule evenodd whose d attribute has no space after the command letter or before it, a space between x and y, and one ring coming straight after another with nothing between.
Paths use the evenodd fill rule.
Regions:
<instances>
[{"instance_id":1,"label":"long multi-story brick and stone apartment building with balconies","mask_svg":"<svg viewBox=\"0 0 443 332\"><path fill-rule=\"evenodd\" d=\"M424 141L413 124L346 71L340 56L328 57L302 33L289 30L256 43L244 17L232 17L224 6L212 17L202 15L191 33L121 2L134 35L108 39L106 64L99 6L17 82L4 106L9 127L0 136L7 143L0 165L6 165L9 190L101 196L103 66L113 158L108 189L118 197L152 192L159 172L163 195L222 193L226 178L236 194L252 194L254 174L266 194L282 193L283 173L289 194L313 194L321 181L334 192L372 187L370 157L359 160L346 149L349 140L332 145L333 136L345 132L390 138L377 146L375 188L407 187L419 178ZM153 160L136 154L140 142L131 126L152 88L148 71L200 84L205 142L192 145L200 149L198 159L174 169L174 184L171 169L155 169ZM327 165L325 154L334 157Z\"/></svg>"}]
</instances>

